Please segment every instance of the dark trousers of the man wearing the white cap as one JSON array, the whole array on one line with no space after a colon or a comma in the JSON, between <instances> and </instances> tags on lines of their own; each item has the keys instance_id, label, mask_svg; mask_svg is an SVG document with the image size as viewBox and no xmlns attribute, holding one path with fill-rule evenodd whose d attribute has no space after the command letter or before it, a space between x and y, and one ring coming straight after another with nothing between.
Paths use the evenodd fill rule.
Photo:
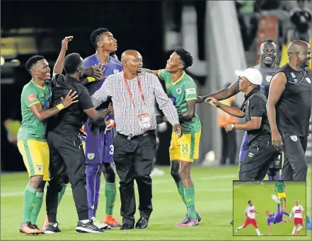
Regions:
<instances>
[{"instance_id":1,"label":"dark trousers of the man wearing the white cap","mask_svg":"<svg viewBox=\"0 0 312 241\"><path fill-rule=\"evenodd\" d=\"M272 146L271 141L251 143L239 167L239 180L263 180L279 154L280 151Z\"/></svg>"}]
</instances>

